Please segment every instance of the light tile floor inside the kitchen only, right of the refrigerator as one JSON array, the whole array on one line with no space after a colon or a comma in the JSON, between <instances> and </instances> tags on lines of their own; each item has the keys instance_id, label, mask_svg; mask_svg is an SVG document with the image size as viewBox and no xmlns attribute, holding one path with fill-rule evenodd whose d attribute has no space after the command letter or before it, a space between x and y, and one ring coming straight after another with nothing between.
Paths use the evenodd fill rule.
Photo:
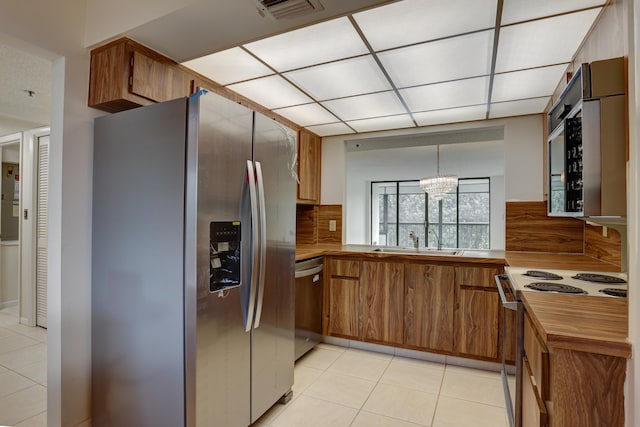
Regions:
<instances>
[{"instance_id":1,"label":"light tile floor inside the kitchen only, right of the refrigerator","mask_svg":"<svg viewBox=\"0 0 640 427\"><path fill-rule=\"evenodd\" d=\"M256 427L508 427L500 373L320 344Z\"/></svg>"}]
</instances>

